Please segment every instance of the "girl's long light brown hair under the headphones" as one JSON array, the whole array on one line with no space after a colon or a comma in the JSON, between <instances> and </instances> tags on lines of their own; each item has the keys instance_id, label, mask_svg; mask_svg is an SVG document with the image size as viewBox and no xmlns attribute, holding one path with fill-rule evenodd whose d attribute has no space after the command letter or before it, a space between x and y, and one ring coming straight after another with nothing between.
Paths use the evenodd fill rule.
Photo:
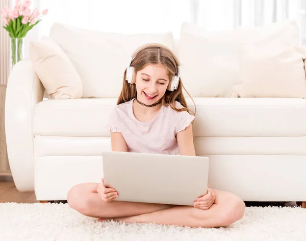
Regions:
<instances>
[{"instance_id":1,"label":"girl's long light brown hair under the headphones","mask_svg":"<svg viewBox=\"0 0 306 241\"><path fill-rule=\"evenodd\" d=\"M177 65L179 65L179 63L177 63L173 54L162 46L148 46L145 49L141 50L140 52L138 52L138 54L133 59L131 66L135 68L135 72L137 73L137 71L143 69L148 64L158 64L158 63L162 64L168 70L168 76L170 80L172 79L174 75L176 75ZM133 98L137 97L136 85L130 84L125 80L125 73L126 73L126 70L124 71L124 74L123 74L123 86L122 86L122 90L121 90L121 93L117 101L117 105L130 101ZM194 107L195 107L194 112L191 111L187 106L187 103L186 103L186 100L185 100L185 97L182 91L183 88L186 91L186 93L189 95L189 97L191 98L194 104ZM183 108L177 109L174 101L181 103ZM162 104L164 106L170 105L170 107L176 111L188 111L192 115L195 115L195 112L196 112L195 103L191 95L185 89L181 78L180 78L179 86L177 87L176 90L174 91L166 90L162 98Z\"/></svg>"}]
</instances>

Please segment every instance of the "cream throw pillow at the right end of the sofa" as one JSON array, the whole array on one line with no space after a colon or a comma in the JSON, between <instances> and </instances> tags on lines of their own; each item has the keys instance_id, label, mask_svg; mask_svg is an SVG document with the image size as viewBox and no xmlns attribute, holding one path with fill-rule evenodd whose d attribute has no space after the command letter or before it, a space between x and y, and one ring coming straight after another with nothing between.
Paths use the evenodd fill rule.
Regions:
<instances>
[{"instance_id":1,"label":"cream throw pillow at the right end of the sofa","mask_svg":"<svg viewBox=\"0 0 306 241\"><path fill-rule=\"evenodd\" d=\"M233 97L305 98L305 58L303 47L242 45Z\"/></svg>"}]
</instances>

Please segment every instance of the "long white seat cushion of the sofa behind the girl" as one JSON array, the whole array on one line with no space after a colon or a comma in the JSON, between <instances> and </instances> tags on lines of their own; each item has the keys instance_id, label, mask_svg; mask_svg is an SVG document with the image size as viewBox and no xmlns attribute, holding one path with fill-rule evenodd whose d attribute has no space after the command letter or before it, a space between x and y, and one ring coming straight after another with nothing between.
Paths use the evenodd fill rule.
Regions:
<instances>
[{"instance_id":1,"label":"long white seat cushion of the sofa behind the girl","mask_svg":"<svg viewBox=\"0 0 306 241\"><path fill-rule=\"evenodd\" d=\"M306 100L194 98L198 137L306 136ZM108 137L117 98L46 100L34 108L35 135ZM187 98L188 106L193 103Z\"/></svg>"}]
</instances>

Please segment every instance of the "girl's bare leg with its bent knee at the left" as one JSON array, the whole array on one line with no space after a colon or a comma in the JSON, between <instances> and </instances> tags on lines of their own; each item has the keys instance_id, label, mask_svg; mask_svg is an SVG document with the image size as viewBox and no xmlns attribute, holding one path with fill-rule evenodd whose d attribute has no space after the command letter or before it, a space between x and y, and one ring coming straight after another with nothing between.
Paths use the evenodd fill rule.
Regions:
<instances>
[{"instance_id":1,"label":"girl's bare leg with its bent knee at the left","mask_svg":"<svg viewBox=\"0 0 306 241\"><path fill-rule=\"evenodd\" d=\"M121 201L106 203L98 198L97 187L98 183L82 183L73 186L67 195L68 205L93 218L134 216L174 207L174 205L166 204Z\"/></svg>"}]
</instances>

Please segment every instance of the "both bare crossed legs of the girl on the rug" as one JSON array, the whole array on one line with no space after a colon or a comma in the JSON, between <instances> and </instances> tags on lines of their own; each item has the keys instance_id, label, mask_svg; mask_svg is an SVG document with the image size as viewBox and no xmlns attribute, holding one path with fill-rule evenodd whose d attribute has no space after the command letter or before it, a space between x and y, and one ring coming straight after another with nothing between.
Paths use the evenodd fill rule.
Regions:
<instances>
[{"instance_id":1,"label":"both bare crossed legs of the girl on the rug","mask_svg":"<svg viewBox=\"0 0 306 241\"><path fill-rule=\"evenodd\" d=\"M241 219L245 210L245 204L239 197L220 190L214 190L216 200L209 209L199 209L154 203L106 203L98 198L97 186L98 183L73 186L67 196L68 205L93 218L205 228L228 226Z\"/></svg>"}]
</instances>

